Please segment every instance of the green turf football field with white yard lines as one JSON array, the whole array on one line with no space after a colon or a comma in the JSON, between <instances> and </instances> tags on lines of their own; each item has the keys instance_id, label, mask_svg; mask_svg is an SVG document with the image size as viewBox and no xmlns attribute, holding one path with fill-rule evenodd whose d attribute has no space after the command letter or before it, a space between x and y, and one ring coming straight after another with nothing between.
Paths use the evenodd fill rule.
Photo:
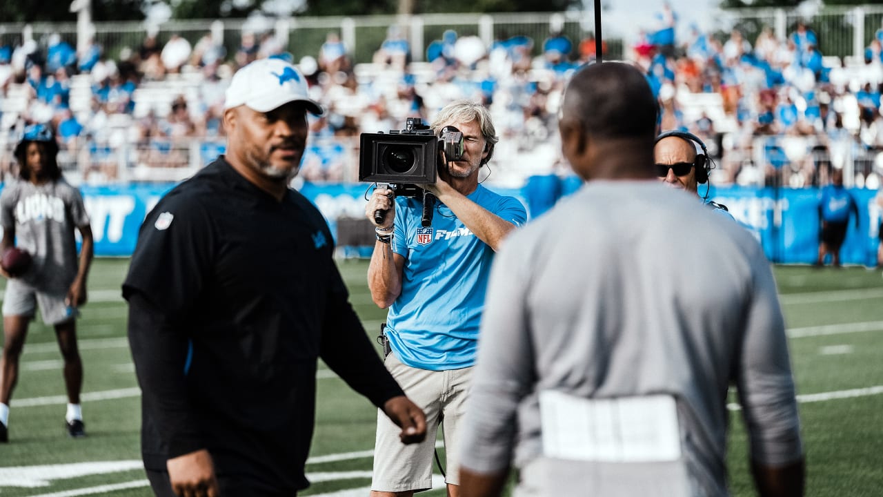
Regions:
<instances>
[{"instance_id":1,"label":"green turf football field with white yard lines","mask_svg":"<svg viewBox=\"0 0 883 497\"><path fill-rule=\"evenodd\" d=\"M0 445L0 495L147 496L140 470L139 393L125 340L119 285L127 259L98 259L90 302L79 320L86 368L83 411L88 437L64 433L64 386L54 334L31 326L10 415L11 443ZM374 336L384 311L366 288L366 261L341 271L351 300ZM807 447L807 494L879 496L883 492L883 279L864 268L779 267ZM2 286L2 284L0 284ZM376 411L327 370L319 371L313 486L303 495L364 497L370 483ZM745 439L734 414L729 461L734 495L753 495ZM443 495L434 490L428 496Z\"/></svg>"}]
</instances>

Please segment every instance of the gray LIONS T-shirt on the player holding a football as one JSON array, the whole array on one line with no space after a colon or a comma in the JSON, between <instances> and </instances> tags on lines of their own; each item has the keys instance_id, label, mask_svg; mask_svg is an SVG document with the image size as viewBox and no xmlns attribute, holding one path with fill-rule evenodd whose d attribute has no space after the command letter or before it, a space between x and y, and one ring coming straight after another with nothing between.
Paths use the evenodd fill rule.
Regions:
<instances>
[{"instance_id":1,"label":"gray LIONS T-shirt on the player holding a football","mask_svg":"<svg viewBox=\"0 0 883 497\"><path fill-rule=\"evenodd\" d=\"M64 179L42 185L11 180L0 193L0 226L14 226L16 245L34 256L22 280L40 291L71 286L78 268L74 228L88 224L82 195Z\"/></svg>"}]
</instances>

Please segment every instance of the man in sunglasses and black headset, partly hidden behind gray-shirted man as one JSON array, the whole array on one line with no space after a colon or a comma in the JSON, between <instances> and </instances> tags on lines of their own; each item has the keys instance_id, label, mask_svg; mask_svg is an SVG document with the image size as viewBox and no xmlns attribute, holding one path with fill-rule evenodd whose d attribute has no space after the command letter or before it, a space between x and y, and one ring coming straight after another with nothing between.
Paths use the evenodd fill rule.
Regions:
<instances>
[{"instance_id":1,"label":"man in sunglasses and black headset, partly hidden behind gray-shirted man","mask_svg":"<svg viewBox=\"0 0 883 497\"><path fill-rule=\"evenodd\" d=\"M669 187L692 192L699 196L699 184L708 183L708 152L705 143L697 136L681 131L667 131L656 137L653 146L656 175ZM732 218L727 206L708 200L708 190L703 202L716 212Z\"/></svg>"}]
</instances>

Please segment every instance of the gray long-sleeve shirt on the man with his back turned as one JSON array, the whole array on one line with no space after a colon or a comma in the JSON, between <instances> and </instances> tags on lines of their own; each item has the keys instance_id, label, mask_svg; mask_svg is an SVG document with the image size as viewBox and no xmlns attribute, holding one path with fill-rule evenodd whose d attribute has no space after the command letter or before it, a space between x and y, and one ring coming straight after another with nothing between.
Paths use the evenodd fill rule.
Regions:
<instances>
[{"instance_id":1,"label":"gray long-sleeve shirt on the man with his back turned","mask_svg":"<svg viewBox=\"0 0 883 497\"><path fill-rule=\"evenodd\" d=\"M630 480L656 471L655 481L665 481L676 470L690 491L671 494L726 495L730 385L738 389L751 457L772 465L799 459L784 320L758 242L657 181L592 181L513 233L497 255L462 465L487 473L514 461L525 495L574 488L586 495L592 489L608 496L666 494L664 486L635 493ZM549 417L543 422L550 411L540 415L540 398L558 393L590 405L579 412L594 417L614 412L611 399L638 399L642 406L668 399L676 413L677 461L653 464L640 451L611 455L579 447L576 424L585 420L576 410L558 412L556 419L569 421L557 425ZM640 409L652 411L631 409L618 424L592 420L581 440L628 447L621 442L645 430L637 445L647 442L657 434L647 426L665 423ZM618 432L592 433L592 426ZM585 458L548 456L543 439L551 437L544 432L550 427L563 432L556 436L565 449ZM570 432L573 440L566 439ZM636 463L610 464L622 461Z\"/></svg>"}]
</instances>

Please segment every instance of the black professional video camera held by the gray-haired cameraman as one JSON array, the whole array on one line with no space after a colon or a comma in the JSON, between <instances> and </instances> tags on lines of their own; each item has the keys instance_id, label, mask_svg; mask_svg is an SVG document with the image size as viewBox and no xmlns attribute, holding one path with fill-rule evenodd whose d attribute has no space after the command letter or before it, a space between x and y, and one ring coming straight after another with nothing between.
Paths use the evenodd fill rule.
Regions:
<instances>
[{"instance_id":1,"label":"black professional video camera held by the gray-haired cameraman","mask_svg":"<svg viewBox=\"0 0 883 497\"><path fill-rule=\"evenodd\" d=\"M435 136L419 118L408 118L403 130L386 133L363 133L359 139L358 180L386 183L396 195L419 197L423 201L423 226L432 223L434 195L417 184L435 182L436 169L441 164L439 151L449 161L463 158L463 133L454 126L442 128ZM384 213L374 213L380 223Z\"/></svg>"}]
</instances>

